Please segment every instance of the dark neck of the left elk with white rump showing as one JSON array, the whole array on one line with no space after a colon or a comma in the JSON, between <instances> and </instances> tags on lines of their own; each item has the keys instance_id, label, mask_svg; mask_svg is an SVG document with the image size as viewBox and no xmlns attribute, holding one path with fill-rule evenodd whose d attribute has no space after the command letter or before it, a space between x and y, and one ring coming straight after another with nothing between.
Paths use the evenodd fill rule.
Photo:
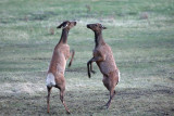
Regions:
<instances>
[{"instance_id":1,"label":"dark neck of the left elk with white rump showing","mask_svg":"<svg viewBox=\"0 0 174 116\"><path fill-rule=\"evenodd\" d=\"M69 30L67 28L62 29L62 35L59 43L67 43L67 36L69 36Z\"/></svg>"}]
</instances>

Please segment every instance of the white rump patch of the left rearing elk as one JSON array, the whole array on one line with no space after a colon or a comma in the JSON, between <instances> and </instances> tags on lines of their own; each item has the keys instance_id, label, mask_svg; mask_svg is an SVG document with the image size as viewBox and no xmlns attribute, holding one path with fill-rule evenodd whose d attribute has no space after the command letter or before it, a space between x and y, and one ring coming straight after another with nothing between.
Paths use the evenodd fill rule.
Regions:
<instances>
[{"instance_id":1,"label":"white rump patch of the left rearing elk","mask_svg":"<svg viewBox=\"0 0 174 116\"><path fill-rule=\"evenodd\" d=\"M47 75L46 86L47 87L55 86L55 77L54 77L54 75L52 73L49 73Z\"/></svg>"}]
</instances>

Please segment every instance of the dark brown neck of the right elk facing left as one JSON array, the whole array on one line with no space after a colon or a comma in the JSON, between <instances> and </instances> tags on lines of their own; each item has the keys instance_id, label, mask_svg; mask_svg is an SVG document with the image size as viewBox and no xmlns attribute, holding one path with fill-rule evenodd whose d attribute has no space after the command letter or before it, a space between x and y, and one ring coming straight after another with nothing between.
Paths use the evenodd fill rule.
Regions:
<instances>
[{"instance_id":1,"label":"dark brown neck of the right elk facing left","mask_svg":"<svg viewBox=\"0 0 174 116\"><path fill-rule=\"evenodd\" d=\"M104 40L102 38L102 31L95 31L95 42L96 42L96 48L99 46L99 44L104 44Z\"/></svg>"}]
</instances>

